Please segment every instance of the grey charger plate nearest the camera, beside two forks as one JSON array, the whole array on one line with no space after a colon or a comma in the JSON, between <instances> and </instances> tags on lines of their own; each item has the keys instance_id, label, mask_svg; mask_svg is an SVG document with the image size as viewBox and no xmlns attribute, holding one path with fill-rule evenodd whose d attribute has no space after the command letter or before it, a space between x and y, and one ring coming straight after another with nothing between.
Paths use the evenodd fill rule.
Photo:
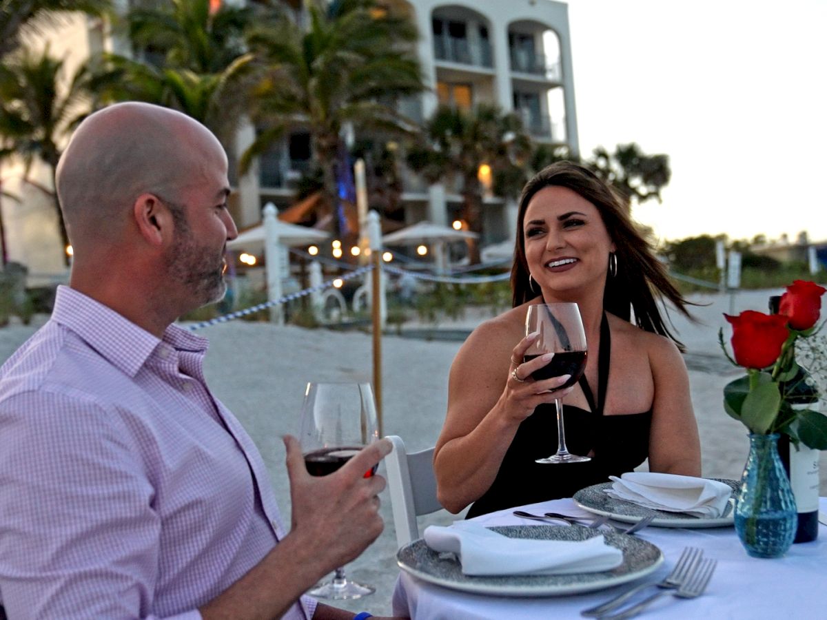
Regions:
<instances>
[{"instance_id":1,"label":"grey charger plate nearest the camera, beside two forks","mask_svg":"<svg viewBox=\"0 0 827 620\"><path fill-rule=\"evenodd\" d=\"M439 554L419 539L399 549L399 568L418 579L444 588L495 596L562 596L610 588L638 579L661 565L663 554L651 542L627 534L596 532L581 526L520 525L491 527L510 538L536 541L585 541L595 536L623 551L623 563L613 570L572 575L463 575L453 554Z\"/></svg>"}]
</instances>

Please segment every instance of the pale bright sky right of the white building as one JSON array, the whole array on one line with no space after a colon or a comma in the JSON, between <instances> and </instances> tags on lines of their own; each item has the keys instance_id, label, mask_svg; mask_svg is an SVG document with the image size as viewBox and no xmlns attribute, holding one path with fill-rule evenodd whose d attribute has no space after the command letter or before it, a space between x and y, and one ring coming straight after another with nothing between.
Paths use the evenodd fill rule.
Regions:
<instances>
[{"instance_id":1,"label":"pale bright sky right of the white building","mask_svg":"<svg viewBox=\"0 0 827 620\"><path fill-rule=\"evenodd\" d=\"M827 0L567 0L583 155L666 153L661 239L827 241Z\"/></svg>"}]
</instances>

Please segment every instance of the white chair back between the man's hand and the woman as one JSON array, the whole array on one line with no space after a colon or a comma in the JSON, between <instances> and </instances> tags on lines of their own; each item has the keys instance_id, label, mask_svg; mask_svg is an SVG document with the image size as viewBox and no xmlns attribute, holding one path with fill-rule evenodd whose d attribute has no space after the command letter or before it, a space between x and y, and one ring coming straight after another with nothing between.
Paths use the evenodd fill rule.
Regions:
<instances>
[{"instance_id":1,"label":"white chair back between the man's hand and the woman","mask_svg":"<svg viewBox=\"0 0 827 620\"><path fill-rule=\"evenodd\" d=\"M437 500L437 479L433 475L433 448L408 454L401 437L387 436L394 451L385 457L394 513L397 548L419 537L416 517L442 509Z\"/></svg>"}]
</instances>

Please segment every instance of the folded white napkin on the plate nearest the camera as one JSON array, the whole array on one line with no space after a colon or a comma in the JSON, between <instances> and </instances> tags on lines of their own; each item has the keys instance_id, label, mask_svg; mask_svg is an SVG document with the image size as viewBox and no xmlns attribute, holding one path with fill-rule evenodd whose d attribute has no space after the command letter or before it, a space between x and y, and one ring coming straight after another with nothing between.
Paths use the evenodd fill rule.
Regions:
<instances>
[{"instance_id":1,"label":"folded white napkin on the plate nearest the camera","mask_svg":"<svg viewBox=\"0 0 827 620\"><path fill-rule=\"evenodd\" d=\"M607 545L602 536L586 541L535 541L505 537L461 521L452 527L428 526L424 538L433 551L457 554L465 575L596 573L623 563L623 551Z\"/></svg>"}]
</instances>

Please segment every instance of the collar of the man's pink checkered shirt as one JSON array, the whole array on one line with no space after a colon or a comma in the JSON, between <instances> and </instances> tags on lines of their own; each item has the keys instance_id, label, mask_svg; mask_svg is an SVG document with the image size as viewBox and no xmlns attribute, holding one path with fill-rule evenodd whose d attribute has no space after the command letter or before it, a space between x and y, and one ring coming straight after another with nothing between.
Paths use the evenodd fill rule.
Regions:
<instances>
[{"instance_id":1,"label":"collar of the man's pink checkered shirt","mask_svg":"<svg viewBox=\"0 0 827 620\"><path fill-rule=\"evenodd\" d=\"M162 340L177 351L203 354L208 346L205 338L177 325L167 327L161 340L112 308L64 285L57 288L52 320L74 331L88 346L131 377Z\"/></svg>"}]
</instances>

